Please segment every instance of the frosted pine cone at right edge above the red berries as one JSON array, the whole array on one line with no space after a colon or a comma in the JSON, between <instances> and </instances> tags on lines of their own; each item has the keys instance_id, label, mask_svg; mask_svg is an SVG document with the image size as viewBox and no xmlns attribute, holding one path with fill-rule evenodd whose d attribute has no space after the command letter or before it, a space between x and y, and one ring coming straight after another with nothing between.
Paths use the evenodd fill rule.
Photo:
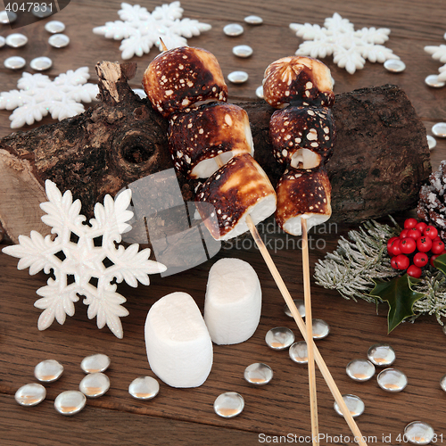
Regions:
<instances>
[{"instance_id":1,"label":"frosted pine cone at right edge above the red berries","mask_svg":"<svg viewBox=\"0 0 446 446\"><path fill-rule=\"evenodd\" d=\"M429 184L422 186L417 205L418 219L433 225L439 235L446 238L446 161L429 177Z\"/></svg>"}]
</instances>

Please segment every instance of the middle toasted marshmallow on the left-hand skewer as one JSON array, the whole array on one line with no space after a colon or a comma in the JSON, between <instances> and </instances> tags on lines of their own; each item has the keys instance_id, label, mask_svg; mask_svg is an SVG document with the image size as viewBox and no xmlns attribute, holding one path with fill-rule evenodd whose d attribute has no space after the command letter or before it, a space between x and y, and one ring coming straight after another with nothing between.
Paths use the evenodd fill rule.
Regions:
<instances>
[{"instance_id":1,"label":"middle toasted marshmallow on the left-hand skewer","mask_svg":"<svg viewBox=\"0 0 446 446\"><path fill-rule=\"evenodd\" d=\"M248 113L234 104L211 103L174 114L169 151L183 175L209 178L234 155L254 153Z\"/></svg>"}]
</instances>

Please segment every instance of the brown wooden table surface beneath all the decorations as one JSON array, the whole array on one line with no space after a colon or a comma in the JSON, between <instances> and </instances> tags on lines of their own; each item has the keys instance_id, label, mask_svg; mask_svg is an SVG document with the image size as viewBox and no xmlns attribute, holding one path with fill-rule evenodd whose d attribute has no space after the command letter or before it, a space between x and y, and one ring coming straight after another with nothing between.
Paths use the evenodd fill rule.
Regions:
<instances>
[{"instance_id":1,"label":"brown wooden table surface beneath all the decorations","mask_svg":"<svg viewBox=\"0 0 446 446\"><path fill-rule=\"evenodd\" d=\"M144 4L149 11L159 5L154 0ZM425 45L445 44L446 7L443 0L384 0L335 1L313 0L286 2L276 0L226 0L225 2L184 0L184 17L210 23L212 29L200 37L188 40L189 45L201 46L217 56L224 74L232 70L246 70L250 78L243 85L229 84L233 101L255 100L255 89L260 86L268 63L285 55L294 54L301 39L289 29L291 22L322 25L334 12L363 27L392 29L385 44L399 54L407 69L399 74L386 70L380 63L367 62L364 70L354 75L338 68L332 58L324 62L335 78L335 93L359 87L393 83L409 95L418 115L425 122L427 134L432 125L446 120L446 87L425 86L427 75L436 73L441 63L434 61L423 50ZM10 55L21 55L27 62L37 55L47 55L54 61L45 72L51 78L66 70L87 66L95 80L95 63L101 60L120 60L119 41L95 36L92 29L106 21L118 19L118 0L72 0L54 19L63 21L70 45L54 49L47 44L45 21L19 29L29 37L24 48L4 47L2 60ZM227 23L244 24L244 17L256 14L263 18L261 26L244 25L244 35L226 37ZM0 28L7 36L12 31ZM249 59L236 58L234 45L251 45L254 54ZM139 70L132 87L139 87L147 64L158 54L135 57ZM2 90L16 88L21 71L0 69ZM25 70L29 70L27 66ZM10 111L0 111L0 137L11 133ZM53 122L45 118L42 123ZM24 128L27 130L27 128ZM437 139L432 151L436 169L446 158L446 143ZM397 218L403 218L401 214ZM337 226L331 234L313 234L318 248L310 250L310 264L314 265L326 252L333 251L340 235L348 227ZM301 253L298 249L274 249L274 241L283 235L271 234L271 254L277 262L285 283L294 298L302 298ZM251 240L251 239L247 239ZM251 246L250 246L251 245ZM277 244L279 246L279 244ZM145 316L154 301L173 291L192 294L202 309L207 275L213 262L221 257L237 257L249 261L256 269L263 290L260 326L252 338L241 344L214 345L211 375L201 387L175 389L161 383L160 394L153 401L136 401L128 394L128 384L142 375L153 376L145 355ZM277 291L260 253L252 243L223 249L212 260L197 268L163 279L152 277L150 286L136 289L120 285L130 315L123 318L124 338L117 339L105 328L98 330L94 320L87 319L86 307L77 304L75 316L67 318L63 326L54 323L43 332L37 330L40 310L33 306L36 290L45 285L43 273L29 276L19 271L16 260L0 253L0 444L12 445L164 445L164 444L258 444L273 442L308 442L310 409L307 369L288 358L285 351L272 351L264 341L269 328L288 326L301 339L293 320L284 314L284 302ZM404 426L420 419L431 424L437 443L446 442L446 395L439 385L446 374L446 336L434 317L418 318L415 324L402 324L391 335L386 335L386 309L365 301L345 301L336 292L312 285L313 317L322 318L331 326L331 334L318 342L319 350L342 393L360 396L366 404L365 413L358 418L359 428L368 444L402 444ZM376 379L363 384L351 381L345 366L351 359L365 358L374 343L391 343L397 354L395 367L401 368L409 385L400 393L381 390ZM62 417L53 407L58 393L78 388L83 376L81 359L103 352L111 357L107 372L111 389L102 398L88 400L87 408L75 417ZM33 370L43 359L57 359L65 372L54 384L48 384L46 400L34 408L24 408L14 401L14 392L34 381ZM274 370L274 379L263 387L252 387L244 381L244 368L252 362L265 362ZM317 371L319 431L321 444L350 444L350 429L333 409L333 397ZM221 392L240 392L245 399L244 412L235 418L224 419L213 411L213 401ZM282 435L282 437L280 437ZM284 437L286 436L286 437ZM347 438L348 437L348 438Z\"/></svg>"}]
</instances>

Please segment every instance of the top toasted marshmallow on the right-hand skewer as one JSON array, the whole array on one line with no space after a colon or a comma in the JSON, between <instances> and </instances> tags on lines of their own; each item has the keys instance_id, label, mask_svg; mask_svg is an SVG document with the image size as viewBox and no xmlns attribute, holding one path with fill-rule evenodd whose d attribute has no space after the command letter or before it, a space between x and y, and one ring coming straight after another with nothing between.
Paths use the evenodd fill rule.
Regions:
<instances>
[{"instance_id":1,"label":"top toasted marshmallow on the right-hand skewer","mask_svg":"<svg viewBox=\"0 0 446 446\"><path fill-rule=\"evenodd\" d=\"M331 107L335 102L328 67L311 57L290 56L272 62L263 78L263 97L277 109L294 105Z\"/></svg>"}]
</instances>

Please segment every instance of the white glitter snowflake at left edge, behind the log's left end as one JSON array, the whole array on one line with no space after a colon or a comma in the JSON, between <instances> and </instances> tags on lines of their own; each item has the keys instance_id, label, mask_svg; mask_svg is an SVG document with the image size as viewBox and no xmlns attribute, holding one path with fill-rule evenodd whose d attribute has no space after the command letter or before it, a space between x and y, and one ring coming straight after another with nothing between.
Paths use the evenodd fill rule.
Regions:
<instances>
[{"instance_id":1,"label":"white glitter snowflake at left edge, behind the log's left end","mask_svg":"<svg viewBox=\"0 0 446 446\"><path fill-rule=\"evenodd\" d=\"M24 72L17 82L20 90L0 94L0 110L14 110L11 128L33 124L51 113L54 120L64 120L84 111L80 102L91 103L99 93L95 84L87 84L88 68L68 70L54 80L43 74Z\"/></svg>"}]
</instances>

